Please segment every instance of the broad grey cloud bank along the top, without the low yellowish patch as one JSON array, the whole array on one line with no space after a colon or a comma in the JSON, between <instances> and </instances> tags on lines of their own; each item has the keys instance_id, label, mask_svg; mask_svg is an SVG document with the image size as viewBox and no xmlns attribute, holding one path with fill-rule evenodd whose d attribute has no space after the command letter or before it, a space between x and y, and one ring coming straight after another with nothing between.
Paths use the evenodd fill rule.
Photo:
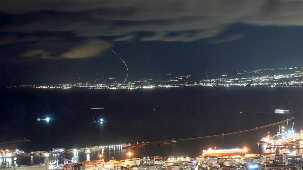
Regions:
<instances>
[{"instance_id":1,"label":"broad grey cloud bank along the top, without the low yellowish patch","mask_svg":"<svg viewBox=\"0 0 303 170\"><path fill-rule=\"evenodd\" d=\"M190 42L222 33L235 23L256 25L303 25L301 1L17 1L2 2L2 32L71 31L78 36L120 36L133 40L135 33L156 36L143 41ZM198 34L186 31L200 32ZM159 34L175 33L159 37ZM211 42L211 41L210 41Z\"/></svg>"}]
</instances>

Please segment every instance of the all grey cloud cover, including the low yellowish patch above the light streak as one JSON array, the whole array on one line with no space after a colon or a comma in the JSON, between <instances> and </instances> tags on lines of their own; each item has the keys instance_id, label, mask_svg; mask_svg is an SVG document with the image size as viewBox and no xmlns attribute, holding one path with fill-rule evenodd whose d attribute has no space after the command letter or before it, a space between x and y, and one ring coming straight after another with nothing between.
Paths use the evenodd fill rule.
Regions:
<instances>
[{"instance_id":1,"label":"all grey cloud cover, including the low yellowish patch above the light streak","mask_svg":"<svg viewBox=\"0 0 303 170\"><path fill-rule=\"evenodd\" d=\"M234 24L303 26L302 15L303 2L296 0L7 0L0 6L0 32L6 34L0 45L34 44L24 45L23 56L87 58L100 55L104 49L96 46L108 48L109 42L230 42L242 38L241 33L220 35ZM33 35L39 32L43 37ZM71 36L54 36L57 32ZM65 43L70 51L54 55L54 43Z\"/></svg>"}]
</instances>

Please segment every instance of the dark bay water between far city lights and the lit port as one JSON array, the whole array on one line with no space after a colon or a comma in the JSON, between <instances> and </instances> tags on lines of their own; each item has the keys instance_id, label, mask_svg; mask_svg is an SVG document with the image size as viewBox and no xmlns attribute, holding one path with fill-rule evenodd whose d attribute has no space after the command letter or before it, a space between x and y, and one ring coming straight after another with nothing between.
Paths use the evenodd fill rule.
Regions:
<instances>
[{"instance_id":1,"label":"dark bay water between far city lights and the lit port","mask_svg":"<svg viewBox=\"0 0 303 170\"><path fill-rule=\"evenodd\" d=\"M302 125L302 88L186 87L135 90L108 89L5 89L1 91L0 141L30 139L17 146L26 152L52 148L82 148L94 145L170 140L239 131L284 120L284 117L238 113L239 110L291 111L295 129ZM90 108L104 107L103 110ZM37 118L51 117L51 121ZM93 123L103 118L104 122ZM289 122L291 126L292 122ZM268 131L258 131L177 144L153 144L134 149L141 156L197 156L210 147L249 146L250 152L271 152L256 145ZM126 151L105 152L104 159L125 159ZM98 159L99 153L68 153L79 161ZM58 156L58 155L57 155ZM58 157L51 155L51 159ZM24 156L21 163L43 162L43 156Z\"/></svg>"}]
</instances>

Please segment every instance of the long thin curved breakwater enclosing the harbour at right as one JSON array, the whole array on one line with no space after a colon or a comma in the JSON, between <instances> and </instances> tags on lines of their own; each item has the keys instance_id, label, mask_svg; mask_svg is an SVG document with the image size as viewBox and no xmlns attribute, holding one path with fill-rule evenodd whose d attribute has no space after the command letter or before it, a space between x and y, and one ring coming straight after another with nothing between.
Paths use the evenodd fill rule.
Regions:
<instances>
[{"instance_id":1,"label":"long thin curved breakwater enclosing the harbour at right","mask_svg":"<svg viewBox=\"0 0 303 170\"><path fill-rule=\"evenodd\" d=\"M252 129L247 129L247 130L241 130L241 131L237 131L237 132L230 132L230 133L222 133L222 134L218 134L218 135L210 135L210 136L200 136L200 137L191 137L191 138L184 138L184 139L176 139L176 140L192 140L192 139L201 139L201 138L208 138L208 137L217 137L217 136L225 136L225 135L231 135L231 134L236 134L236 133L242 133L242 132L248 132L248 131L252 131L252 130L257 130L257 129L261 129L261 128L266 128L272 125L278 125L280 123L284 123L287 121L291 121L293 120L295 117L287 115L287 114L283 114L283 113L271 113L271 112L253 112L253 111L243 111L240 110L240 113L259 113L259 114L272 114L272 115L279 115L279 116L284 116L287 119L283 120L283 121L279 121L276 123L271 123L268 125L264 125L264 126L260 126L260 127L256 127L256 128L252 128ZM171 140L161 140L161 141L153 141L153 142L148 142L148 143L160 143L160 142L169 142Z\"/></svg>"}]
</instances>

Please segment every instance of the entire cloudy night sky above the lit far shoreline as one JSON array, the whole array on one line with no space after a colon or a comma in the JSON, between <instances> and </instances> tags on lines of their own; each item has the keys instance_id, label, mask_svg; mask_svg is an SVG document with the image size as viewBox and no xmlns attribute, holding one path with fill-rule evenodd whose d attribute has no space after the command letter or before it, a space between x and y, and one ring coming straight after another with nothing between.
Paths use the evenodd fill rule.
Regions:
<instances>
[{"instance_id":1,"label":"entire cloudy night sky above the lit far shoreline","mask_svg":"<svg viewBox=\"0 0 303 170\"><path fill-rule=\"evenodd\" d=\"M0 85L303 66L303 1L2 0Z\"/></svg>"}]
</instances>

